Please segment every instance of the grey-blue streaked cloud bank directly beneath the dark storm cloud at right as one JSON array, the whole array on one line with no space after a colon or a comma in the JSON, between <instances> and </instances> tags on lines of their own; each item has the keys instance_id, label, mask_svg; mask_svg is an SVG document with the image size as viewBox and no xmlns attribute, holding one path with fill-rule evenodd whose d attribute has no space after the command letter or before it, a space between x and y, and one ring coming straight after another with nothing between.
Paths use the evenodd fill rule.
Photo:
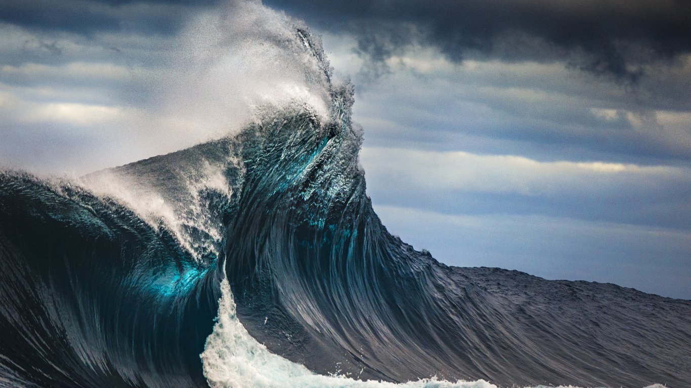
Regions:
<instances>
[{"instance_id":1,"label":"grey-blue streaked cloud bank directly beneath the dark storm cloud at right","mask_svg":"<svg viewBox=\"0 0 691 388\"><path fill-rule=\"evenodd\" d=\"M346 62L343 50L334 64ZM419 48L392 73L356 84L354 119L366 144L510 153L537 159L679 164L691 160L691 99L665 73L647 93L574 77L560 64L468 60ZM691 64L691 61L689 62ZM670 78L689 86L691 66ZM607 115L605 115L607 113Z\"/></svg>"}]
</instances>

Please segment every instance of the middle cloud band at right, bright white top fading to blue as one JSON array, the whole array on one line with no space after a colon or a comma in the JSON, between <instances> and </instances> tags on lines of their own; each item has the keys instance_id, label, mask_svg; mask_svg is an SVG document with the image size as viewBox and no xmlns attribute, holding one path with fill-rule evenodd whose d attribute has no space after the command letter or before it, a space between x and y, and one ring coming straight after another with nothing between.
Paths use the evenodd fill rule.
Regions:
<instances>
[{"instance_id":1,"label":"middle cloud band at right, bright white top fading to blue","mask_svg":"<svg viewBox=\"0 0 691 388\"><path fill-rule=\"evenodd\" d=\"M363 148L375 204L691 230L691 169Z\"/></svg>"}]
</instances>

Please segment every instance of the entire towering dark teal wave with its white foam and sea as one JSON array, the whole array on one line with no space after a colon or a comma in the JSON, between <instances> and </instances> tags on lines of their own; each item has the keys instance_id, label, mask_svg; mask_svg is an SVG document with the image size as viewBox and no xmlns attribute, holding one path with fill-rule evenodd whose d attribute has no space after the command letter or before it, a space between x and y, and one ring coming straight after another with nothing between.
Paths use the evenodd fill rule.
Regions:
<instances>
[{"instance_id":1,"label":"entire towering dark teal wave with its white foam and sea","mask_svg":"<svg viewBox=\"0 0 691 388\"><path fill-rule=\"evenodd\" d=\"M690 301L449 267L390 235L352 87L323 74L330 117L294 104L78 182L2 173L0 387L691 382Z\"/></svg>"}]
</instances>

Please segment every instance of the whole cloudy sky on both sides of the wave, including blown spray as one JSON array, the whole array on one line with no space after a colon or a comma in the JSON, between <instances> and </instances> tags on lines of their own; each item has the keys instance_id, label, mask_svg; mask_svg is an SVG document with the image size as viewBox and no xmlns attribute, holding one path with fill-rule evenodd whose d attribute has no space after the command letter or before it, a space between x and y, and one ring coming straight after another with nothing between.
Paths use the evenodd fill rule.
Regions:
<instances>
[{"instance_id":1,"label":"whole cloudy sky on both sides of the wave, including blown spray","mask_svg":"<svg viewBox=\"0 0 691 388\"><path fill-rule=\"evenodd\" d=\"M301 19L355 85L391 233L449 265L691 299L691 2L264 5L0 0L0 166L79 175L310 99L273 27Z\"/></svg>"}]
</instances>

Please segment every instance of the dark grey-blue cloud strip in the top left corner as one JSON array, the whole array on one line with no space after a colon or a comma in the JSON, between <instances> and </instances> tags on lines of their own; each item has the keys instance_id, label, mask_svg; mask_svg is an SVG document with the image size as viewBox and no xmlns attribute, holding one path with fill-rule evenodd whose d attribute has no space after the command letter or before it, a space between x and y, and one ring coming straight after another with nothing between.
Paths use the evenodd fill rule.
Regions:
<instances>
[{"instance_id":1,"label":"dark grey-blue cloud strip in the top left corner","mask_svg":"<svg viewBox=\"0 0 691 388\"><path fill-rule=\"evenodd\" d=\"M0 0L0 21L82 35L118 30L169 35L180 29L191 9L217 3L213 0Z\"/></svg>"}]
</instances>

